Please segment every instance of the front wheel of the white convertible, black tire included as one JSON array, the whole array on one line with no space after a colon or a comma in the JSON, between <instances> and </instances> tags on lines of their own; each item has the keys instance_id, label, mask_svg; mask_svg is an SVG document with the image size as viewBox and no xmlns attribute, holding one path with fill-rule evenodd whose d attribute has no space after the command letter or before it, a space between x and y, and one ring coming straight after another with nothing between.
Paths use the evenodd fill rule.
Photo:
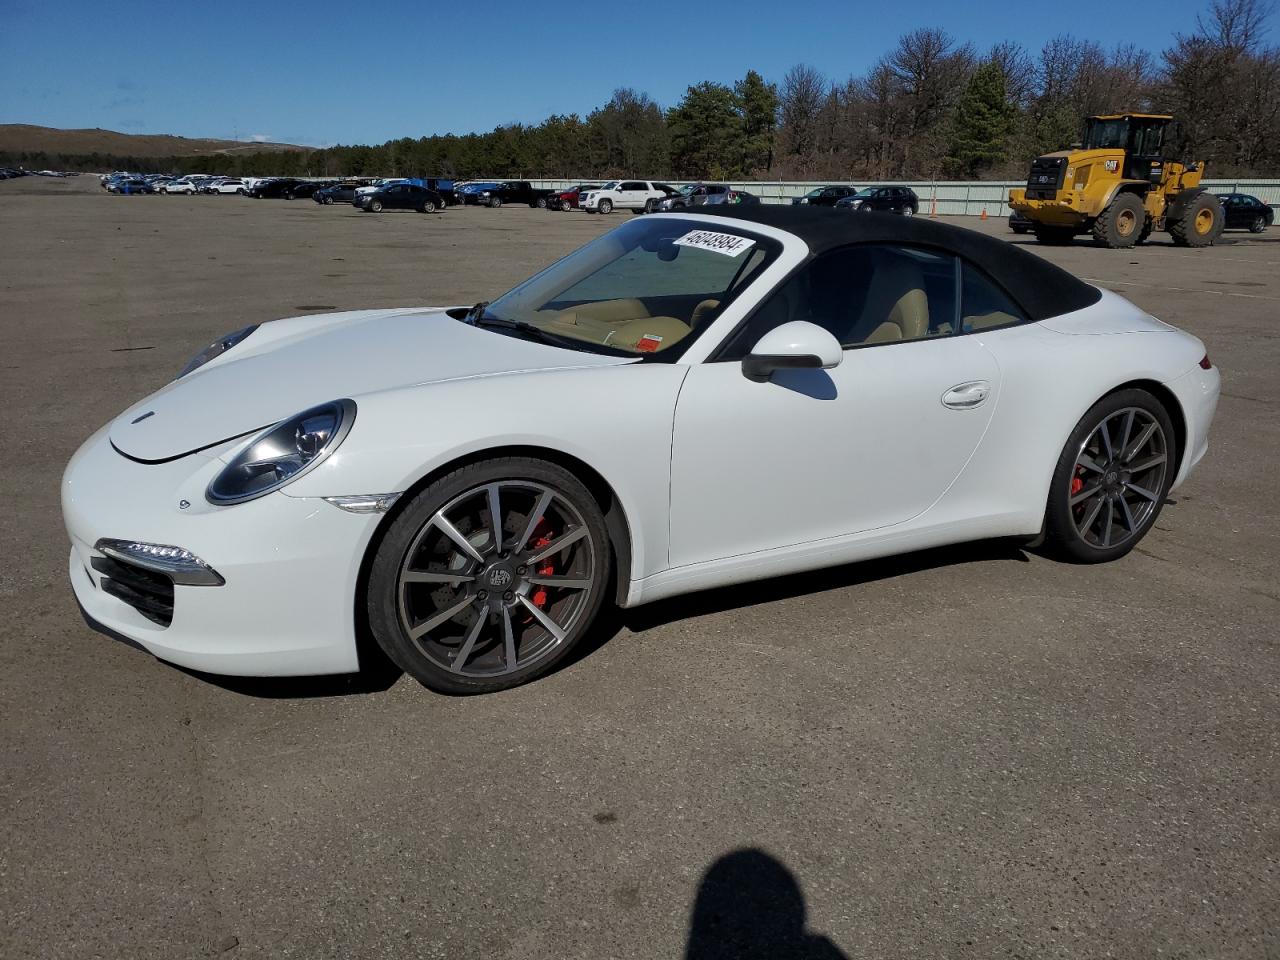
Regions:
<instances>
[{"instance_id":1,"label":"front wheel of the white convertible, black tire included","mask_svg":"<svg viewBox=\"0 0 1280 960\"><path fill-rule=\"evenodd\" d=\"M504 690L581 641L611 566L604 516L571 472L525 457L472 463L392 522L370 568L369 625L433 690Z\"/></svg>"}]
</instances>

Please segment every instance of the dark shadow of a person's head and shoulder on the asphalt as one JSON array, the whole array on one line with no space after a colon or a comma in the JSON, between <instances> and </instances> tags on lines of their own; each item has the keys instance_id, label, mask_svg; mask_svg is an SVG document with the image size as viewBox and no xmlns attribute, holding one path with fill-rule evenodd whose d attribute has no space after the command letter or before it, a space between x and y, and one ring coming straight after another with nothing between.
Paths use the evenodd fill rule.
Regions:
<instances>
[{"instance_id":1,"label":"dark shadow of a person's head and shoulder on the asphalt","mask_svg":"<svg viewBox=\"0 0 1280 960\"><path fill-rule=\"evenodd\" d=\"M849 960L805 923L795 874L763 850L735 850L703 876L685 960Z\"/></svg>"}]
</instances>

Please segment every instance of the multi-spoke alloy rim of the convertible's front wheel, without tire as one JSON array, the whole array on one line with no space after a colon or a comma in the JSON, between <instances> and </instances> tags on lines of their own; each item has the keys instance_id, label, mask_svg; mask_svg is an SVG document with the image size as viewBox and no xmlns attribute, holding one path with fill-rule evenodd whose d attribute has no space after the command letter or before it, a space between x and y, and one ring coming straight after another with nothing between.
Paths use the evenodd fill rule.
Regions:
<instances>
[{"instance_id":1,"label":"multi-spoke alloy rim of the convertible's front wheel, without tire","mask_svg":"<svg viewBox=\"0 0 1280 960\"><path fill-rule=\"evenodd\" d=\"M406 550L401 628L454 675L522 671L591 609L596 549L564 494L531 480L475 486L436 511Z\"/></svg>"}]
</instances>

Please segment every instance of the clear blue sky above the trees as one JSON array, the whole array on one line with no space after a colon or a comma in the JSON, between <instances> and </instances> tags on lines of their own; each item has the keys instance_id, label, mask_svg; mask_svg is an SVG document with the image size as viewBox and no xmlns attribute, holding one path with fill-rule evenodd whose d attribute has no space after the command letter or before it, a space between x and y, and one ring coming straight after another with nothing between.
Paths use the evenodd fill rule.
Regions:
<instances>
[{"instance_id":1,"label":"clear blue sky above the trees","mask_svg":"<svg viewBox=\"0 0 1280 960\"><path fill-rule=\"evenodd\" d=\"M0 0L0 123L379 143L585 115L622 86L668 106L690 83L731 83L751 68L780 79L804 61L844 79L916 27L941 27L979 49L1015 40L1038 50L1065 29L1158 54L1207 6L1165 0L1135 29L1106 0L653 0L593 5L590 15L582 5L507 0ZM1268 38L1280 42L1275 19Z\"/></svg>"}]
</instances>

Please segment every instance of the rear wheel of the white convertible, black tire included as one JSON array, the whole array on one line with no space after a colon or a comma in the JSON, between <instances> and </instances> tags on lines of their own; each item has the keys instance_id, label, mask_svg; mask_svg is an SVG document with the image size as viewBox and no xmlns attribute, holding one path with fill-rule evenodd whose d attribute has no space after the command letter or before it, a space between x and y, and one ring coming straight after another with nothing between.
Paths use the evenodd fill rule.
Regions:
<instances>
[{"instance_id":1,"label":"rear wheel of the white convertible, black tire included","mask_svg":"<svg viewBox=\"0 0 1280 960\"><path fill-rule=\"evenodd\" d=\"M1103 563L1138 545L1176 472L1174 426L1146 390L1119 390L1085 413L1050 485L1044 547L1060 559Z\"/></svg>"}]
</instances>

